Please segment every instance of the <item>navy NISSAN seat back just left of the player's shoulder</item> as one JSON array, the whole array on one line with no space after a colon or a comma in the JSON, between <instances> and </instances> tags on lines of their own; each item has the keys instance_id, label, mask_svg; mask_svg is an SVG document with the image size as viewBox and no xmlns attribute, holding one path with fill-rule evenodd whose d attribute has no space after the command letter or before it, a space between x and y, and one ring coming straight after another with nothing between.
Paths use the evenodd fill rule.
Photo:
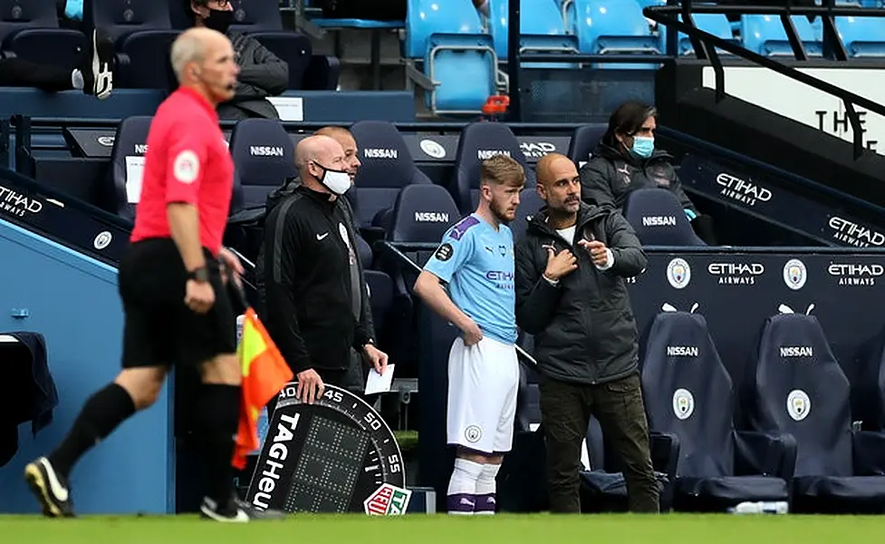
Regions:
<instances>
[{"instance_id":1,"label":"navy NISSAN seat back just left of the player's shoulder","mask_svg":"<svg viewBox=\"0 0 885 544\"><path fill-rule=\"evenodd\" d=\"M408 185L397 196L388 239L437 244L458 219L461 214L446 189L433 184Z\"/></svg>"}]
</instances>

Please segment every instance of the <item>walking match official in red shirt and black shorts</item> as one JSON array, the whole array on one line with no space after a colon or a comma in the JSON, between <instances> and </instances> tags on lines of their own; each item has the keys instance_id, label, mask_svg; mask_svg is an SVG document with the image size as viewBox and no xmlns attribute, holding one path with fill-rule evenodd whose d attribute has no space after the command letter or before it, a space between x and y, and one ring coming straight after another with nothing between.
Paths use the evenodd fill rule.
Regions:
<instances>
[{"instance_id":1,"label":"walking match official in red shirt and black shorts","mask_svg":"<svg viewBox=\"0 0 885 544\"><path fill-rule=\"evenodd\" d=\"M150 125L135 228L120 259L123 370L86 401L63 442L25 468L46 516L73 515L74 463L157 400L172 364L197 365L202 377L195 414L207 481L201 516L248 521L278 514L250 509L233 491L241 370L226 294L226 281L237 279L226 271L242 267L221 247L234 164L216 105L234 94L234 51L224 34L191 29L172 45L171 62L180 86Z\"/></svg>"}]
</instances>

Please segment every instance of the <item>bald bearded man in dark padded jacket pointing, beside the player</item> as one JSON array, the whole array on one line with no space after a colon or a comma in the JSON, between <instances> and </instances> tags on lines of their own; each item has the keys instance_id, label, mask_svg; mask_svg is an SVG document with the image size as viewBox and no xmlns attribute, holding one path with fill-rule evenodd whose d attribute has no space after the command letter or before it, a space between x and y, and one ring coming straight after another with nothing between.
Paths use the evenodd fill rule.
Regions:
<instances>
[{"instance_id":1,"label":"bald bearded man in dark padded jacket pointing, beside the player","mask_svg":"<svg viewBox=\"0 0 885 544\"><path fill-rule=\"evenodd\" d=\"M623 461L630 510L659 511L625 277L646 256L630 224L581 201L572 160L538 161L546 208L516 247L516 323L534 335L550 510L580 512L578 470L591 415Z\"/></svg>"}]
</instances>

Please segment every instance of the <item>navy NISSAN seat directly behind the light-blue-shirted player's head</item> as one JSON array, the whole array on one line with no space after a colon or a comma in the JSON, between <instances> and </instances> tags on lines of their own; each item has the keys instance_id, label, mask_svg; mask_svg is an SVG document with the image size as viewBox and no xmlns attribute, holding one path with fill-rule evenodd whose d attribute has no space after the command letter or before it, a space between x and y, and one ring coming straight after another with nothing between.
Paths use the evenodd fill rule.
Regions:
<instances>
[{"instance_id":1,"label":"navy NISSAN seat directly behind the light-blue-shirted player's head","mask_svg":"<svg viewBox=\"0 0 885 544\"><path fill-rule=\"evenodd\" d=\"M525 188L534 188L534 170L525 160L514 133L504 123L474 122L461 131L455 155L455 176L450 191L458 209L469 213L479 201L479 166L483 160L505 154L518 160L525 170Z\"/></svg>"}]
</instances>

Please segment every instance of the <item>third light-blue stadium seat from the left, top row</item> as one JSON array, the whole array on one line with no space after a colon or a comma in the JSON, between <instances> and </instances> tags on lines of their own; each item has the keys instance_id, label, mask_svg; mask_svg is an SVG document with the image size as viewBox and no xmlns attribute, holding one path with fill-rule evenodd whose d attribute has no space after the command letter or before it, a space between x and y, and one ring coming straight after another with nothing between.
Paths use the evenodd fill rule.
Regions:
<instances>
[{"instance_id":1,"label":"third light-blue stadium seat from the left, top row","mask_svg":"<svg viewBox=\"0 0 885 544\"><path fill-rule=\"evenodd\" d=\"M659 38L651 33L636 0L572 0L567 12L581 53L660 53ZM649 64L600 63L598 67L646 70Z\"/></svg>"}]
</instances>

